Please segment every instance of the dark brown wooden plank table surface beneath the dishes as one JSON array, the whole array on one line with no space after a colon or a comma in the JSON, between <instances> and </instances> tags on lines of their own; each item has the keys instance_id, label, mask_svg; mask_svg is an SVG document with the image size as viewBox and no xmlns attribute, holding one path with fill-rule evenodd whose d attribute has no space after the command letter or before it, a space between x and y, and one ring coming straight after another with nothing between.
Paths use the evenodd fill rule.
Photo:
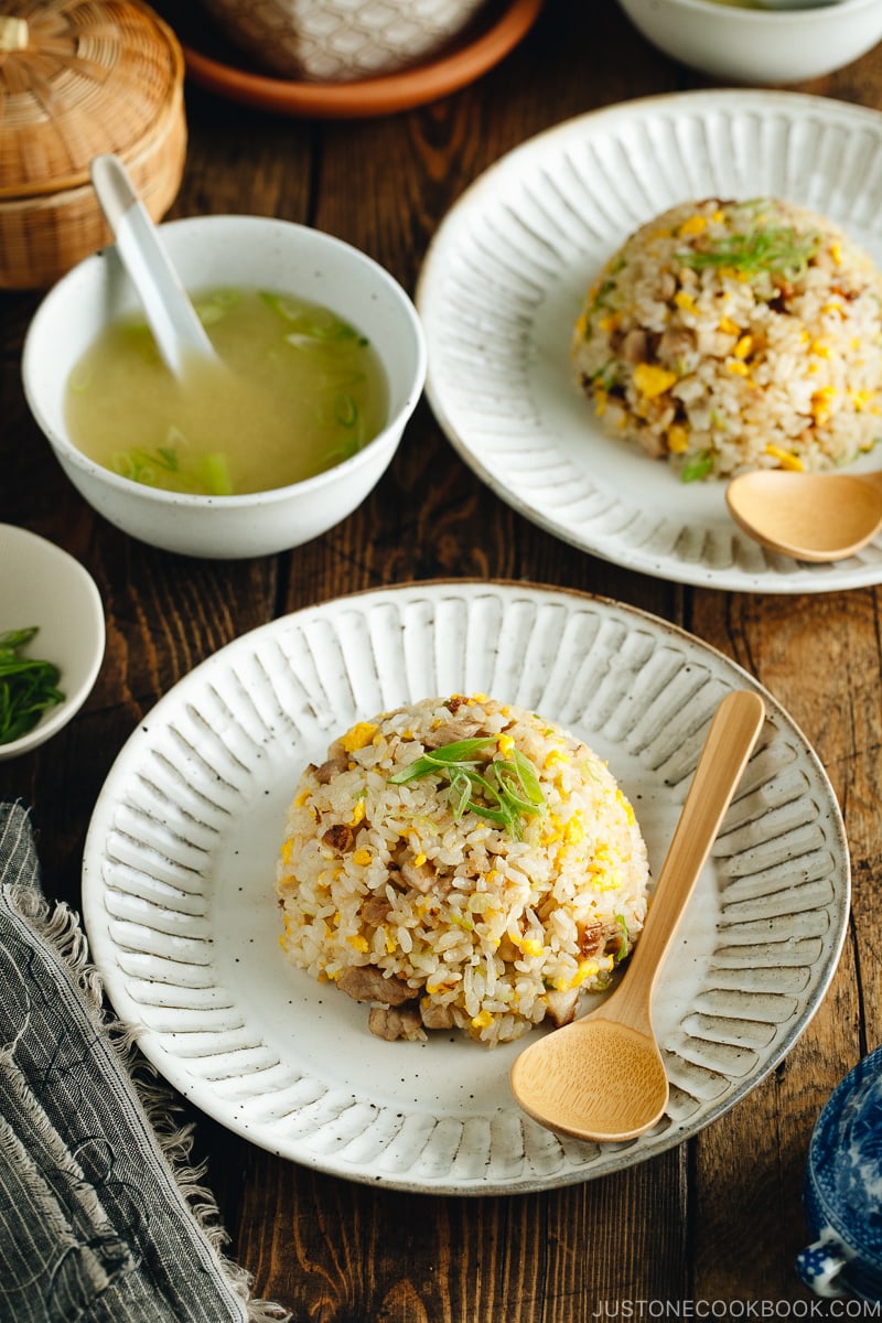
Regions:
<instances>
[{"instance_id":1,"label":"dark brown wooden plank table surface beneath the dishes","mask_svg":"<svg viewBox=\"0 0 882 1323\"><path fill-rule=\"evenodd\" d=\"M172 216L307 222L360 246L413 292L439 221L508 149L599 106L702 86L713 83L652 49L612 0L547 0L526 40L477 83L380 119L272 116L188 83L189 155ZM797 90L882 110L882 46ZM789 710L848 828L853 913L807 1031L747 1099L619 1175L501 1197L376 1189L271 1156L185 1105L230 1253L254 1274L255 1294L311 1323L582 1323L615 1311L665 1316L677 1302L697 1316L725 1306L751 1316L747 1302L778 1316L820 1307L793 1269L807 1147L830 1090L882 1040L879 590L693 589L582 554L492 495L426 402L373 495L324 537L239 562L155 550L93 513L28 414L20 352L37 299L0 296L0 520L77 556L107 618L104 663L82 713L34 754L0 763L0 794L33 804L50 897L78 905L86 828L110 766L181 676L266 620L405 579L555 583L684 626Z\"/></svg>"}]
</instances>

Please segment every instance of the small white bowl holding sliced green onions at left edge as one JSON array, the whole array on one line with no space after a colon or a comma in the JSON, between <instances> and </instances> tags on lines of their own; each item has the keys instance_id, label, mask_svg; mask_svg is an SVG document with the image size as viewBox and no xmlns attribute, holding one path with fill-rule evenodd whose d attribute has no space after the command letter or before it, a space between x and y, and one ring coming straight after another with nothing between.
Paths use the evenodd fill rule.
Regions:
<instances>
[{"instance_id":1,"label":"small white bowl holding sliced green onions at left edge","mask_svg":"<svg viewBox=\"0 0 882 1323\"><path fill-rule=\"evenodd\" d=\"M63 703L33 730L0 744L0 759L30 753L79 712L104 658L104 609L91 574L45 537L0 524L0 634L37 626L22 655L58 667Z\"/></svg>"}]
</instances>

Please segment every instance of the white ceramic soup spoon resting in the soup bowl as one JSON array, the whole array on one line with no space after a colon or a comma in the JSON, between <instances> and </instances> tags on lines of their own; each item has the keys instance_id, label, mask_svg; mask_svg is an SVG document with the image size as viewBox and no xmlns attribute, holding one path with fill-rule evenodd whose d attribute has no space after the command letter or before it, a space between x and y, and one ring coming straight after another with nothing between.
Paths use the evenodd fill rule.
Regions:
<instances>
[{"instance_id":1,"label":"white ceramic soup spoon resting in the soup bowl","mask_svg":"<svg viewBox=\"0 0 882 1323\"><path fill-rule=\"evenodd\" d=\"M112 152L95 156L91 181L169 370L182 377L194 359L220 363L123 163Z\"/></svg>"}]
</instances>

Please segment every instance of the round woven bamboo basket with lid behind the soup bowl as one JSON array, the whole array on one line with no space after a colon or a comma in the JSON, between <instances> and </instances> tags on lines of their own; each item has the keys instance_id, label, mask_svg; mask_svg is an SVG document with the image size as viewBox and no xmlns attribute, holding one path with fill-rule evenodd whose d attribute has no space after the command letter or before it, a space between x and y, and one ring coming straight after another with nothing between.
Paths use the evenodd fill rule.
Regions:
<instances>
[{"instance_id":1,"label":"round woven bamboo basket with lid behind the soup bowl","mask_svg":"<svg viewBox=\"0 0 882 1323\"><path fill-rule=\"evenodd\" d=\"M175 33L140 0L0 0L0 288L46 288L111 242L102 152L160 220L186 153Z\"/></svg>"}]
</instances>

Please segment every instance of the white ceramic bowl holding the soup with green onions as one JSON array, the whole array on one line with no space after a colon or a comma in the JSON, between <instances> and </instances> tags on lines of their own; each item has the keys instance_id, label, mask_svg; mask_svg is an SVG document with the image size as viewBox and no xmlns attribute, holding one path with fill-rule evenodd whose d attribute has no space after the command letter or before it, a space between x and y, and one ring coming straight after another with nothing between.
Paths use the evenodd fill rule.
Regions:
<instances>
[{"instance_id":1,"label":"white ceramic bowl holding the soup with green onions","mask_svg":"<svg viewBox=\"0 0 882 1323\"><path fill-rule=\"evenodd\" d=\"M370 340L386 372L389 419L350 459L304 482L241 496L193 496L120 478L89 459L65 423L70 369L103 327L139 308L114 247L85 259L45 296L25 336L30 411L74 487L111 524L184 556L237 560L299 546L352 513L389 466L422 394L426 343L417 311L377 262L341 239L263 216L201 216L160 226L188 288L241 284L332 308Z\"/></svg>"}]
</instances>

